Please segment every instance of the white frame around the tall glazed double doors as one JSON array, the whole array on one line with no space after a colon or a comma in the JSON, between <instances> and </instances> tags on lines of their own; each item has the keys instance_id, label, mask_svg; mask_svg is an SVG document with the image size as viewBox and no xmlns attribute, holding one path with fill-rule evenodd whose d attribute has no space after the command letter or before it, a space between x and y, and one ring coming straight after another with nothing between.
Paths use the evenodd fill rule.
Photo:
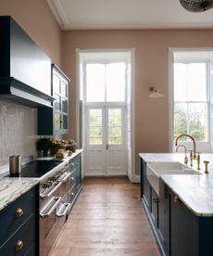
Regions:
<instances>
[{"instance_id":1,"label":"white frame around the tall glazed double doors","mask_svg":"<svg viewBox=\"0 0 213 256\"><path fill-rule=\"evenodd\" d=\"M81 116L81 54L83 53L101 53L101 52L127 52L131 55L131 162L128 163L127 173L128 177L131 182L134 183L140 183L140 175L135 174L135 160L138 156L135 155L135 48L94 48L94 49L80 49L76 48L76 140L77 140L77 146L83 147L82 141L81 141L81 133L84 133L85 131L81 131L81 122L83 122L83 114ZM82 127L85 125L82 124ZM129 148L128 148L129 149ZM128 150L127 149L127 150ZM82 159L84 158L84 153L82 151ZM84 161L82 160L82 177L84 176Z\"/></svg>"}]
</instances>

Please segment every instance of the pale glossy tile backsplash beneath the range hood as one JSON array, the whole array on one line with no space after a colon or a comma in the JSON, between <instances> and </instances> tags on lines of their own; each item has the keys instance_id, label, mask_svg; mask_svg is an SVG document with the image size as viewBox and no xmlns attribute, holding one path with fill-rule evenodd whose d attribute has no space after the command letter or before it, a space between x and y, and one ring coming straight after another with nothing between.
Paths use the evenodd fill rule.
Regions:
<instances>
[{"instance_id":1,"label":"pale glossy tile backsplash beneath the range hood","mask_svg":"<svg viewBox=\"0 0 213 256\"><path fill-rule=\"evenodd\" d=\"M36 156L37 109L0 99L0 166L9 156Z\"/></svg>"}]
</instances>

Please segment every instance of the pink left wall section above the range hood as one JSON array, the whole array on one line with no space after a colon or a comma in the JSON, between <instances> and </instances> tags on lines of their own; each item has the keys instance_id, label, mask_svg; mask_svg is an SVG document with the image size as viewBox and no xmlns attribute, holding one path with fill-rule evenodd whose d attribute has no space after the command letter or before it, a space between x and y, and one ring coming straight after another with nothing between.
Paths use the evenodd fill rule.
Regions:
<instances>
[{"instance_id":1,"label":"pink left wall section above the range hood","mask_svg":"<svg viewBox=\"0 0 213 256\"><path fill-rule=\"evenodd\" d=\"M45 0L0 0L0 15L12 16L58 66L61 30Z\"/></svg>"}]
</instances>

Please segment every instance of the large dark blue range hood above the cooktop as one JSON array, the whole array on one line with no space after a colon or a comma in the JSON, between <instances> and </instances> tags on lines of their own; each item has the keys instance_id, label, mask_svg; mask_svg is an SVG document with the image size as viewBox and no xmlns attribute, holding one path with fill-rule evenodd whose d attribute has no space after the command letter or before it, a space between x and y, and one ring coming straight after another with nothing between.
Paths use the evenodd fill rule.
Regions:
<instances>
[{"instance_id":1,"label":"large dark blue range hood above the cooktop","mask_svg":"<svg viewBox=\"0 0 213 256\"><path fill-rule=\"evenodd\" d=\"M0 17L0 96L52 106L51 60L10 16Z\"/></svg>"}]
</instances>

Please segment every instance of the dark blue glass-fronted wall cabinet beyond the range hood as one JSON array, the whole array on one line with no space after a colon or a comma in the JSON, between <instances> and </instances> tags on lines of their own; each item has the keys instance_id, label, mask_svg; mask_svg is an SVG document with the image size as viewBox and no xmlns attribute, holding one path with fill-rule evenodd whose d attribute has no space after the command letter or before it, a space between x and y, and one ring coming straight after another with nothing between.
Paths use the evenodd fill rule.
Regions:
<instances>
[{"instance_id":1,"label":"dark blue glass-fronted wall cabinet beyond the range hood","mask_svg":"<svg viewBox=\"0 0 213 256\"><path fill-rule=\"evenodd\" d=\"M69 132L69 78L52 65L53 109L38 108L38 134L68 134Z\"/></svg>"}]
</instances>

